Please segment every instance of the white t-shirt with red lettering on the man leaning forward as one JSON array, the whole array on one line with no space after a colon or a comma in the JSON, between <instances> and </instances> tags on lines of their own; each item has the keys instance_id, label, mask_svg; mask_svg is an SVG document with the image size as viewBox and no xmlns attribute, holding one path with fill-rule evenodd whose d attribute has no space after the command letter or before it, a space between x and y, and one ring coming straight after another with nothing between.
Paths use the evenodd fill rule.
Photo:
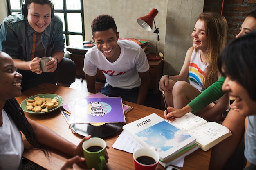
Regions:
<instances>
[{"instance_id":1,"label":"white t-shirt with red lettering on the man leaning forward","mask_svg":"<svg viewBox=\"0 0 256 170\"><path fill-rule=\"evenodd\" d=\"M133 41L118 40L117 44L121 48L121 54L113 63L106 59L97 46L88 50L85 54L83 71L89 76L95 76L99 68L104 73L106 82L112 87L122 89L139 87L141 79L138 72L149 70L145 52Z\"/></svg>"}]
</instances>

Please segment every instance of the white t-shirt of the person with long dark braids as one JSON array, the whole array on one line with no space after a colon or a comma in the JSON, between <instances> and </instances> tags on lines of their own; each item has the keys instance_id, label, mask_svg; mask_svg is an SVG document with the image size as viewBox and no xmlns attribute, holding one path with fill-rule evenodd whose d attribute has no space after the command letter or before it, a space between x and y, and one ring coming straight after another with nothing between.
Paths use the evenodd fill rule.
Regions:
<instances>
[{"instance_id":1,"label":"white t-shirt of the person with long dark braids","mask_svg":"<svg viewBox=\"0 0 256 170\"><path fill-rule=\"evenodd\" d=\"M7 113L2 110L3 124L0 126L0 170L17 170L24 144L20 131Z\"/></svg>"}]
</instances>

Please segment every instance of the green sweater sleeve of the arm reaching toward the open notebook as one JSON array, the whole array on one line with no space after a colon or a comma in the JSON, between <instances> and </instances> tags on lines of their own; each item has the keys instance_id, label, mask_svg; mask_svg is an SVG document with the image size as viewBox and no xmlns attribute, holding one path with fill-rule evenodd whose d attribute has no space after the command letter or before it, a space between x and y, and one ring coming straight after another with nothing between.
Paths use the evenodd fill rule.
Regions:
<instances>
[{"instance_id":1,"label":"green sweater sleeve of the arm reaching toward the open notebook","mask_svg":"<svg viewBox=\"0 0 256 170\"><path fill-rule=\"evenodd\" d=\"M189 102L189 106L193 110L194 113L198 112L200 109L206 107L211 102L214 102L221 98L225 92L222 91L222 85L225 81L225 77L220 77L215 83L209 86L204 90L200 95L198 95L195 99Z\"/></svg>"}]
</instances>

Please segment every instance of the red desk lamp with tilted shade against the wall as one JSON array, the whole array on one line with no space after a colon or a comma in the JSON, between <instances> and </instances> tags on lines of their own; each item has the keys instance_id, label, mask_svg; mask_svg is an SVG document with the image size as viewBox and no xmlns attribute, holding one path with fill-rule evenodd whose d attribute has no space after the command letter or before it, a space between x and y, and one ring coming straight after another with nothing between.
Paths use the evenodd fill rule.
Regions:
<instances>
[{"instance_id":1,"label":"red desk lamp with tilted shade against the wall","mask_svg":"<svg viewBox=\"0 0 256 170\"><path fill-rule=\"evenodd\" d=\"M153 8L150 13L144 17L140 17L137 19L137 22L138 24L142 27L142 28L145 28L147 31L152 31L152 27L153 27L153 22L155 24L155 16L157 15L158 11L157 9ZM157 43L156 43L156 52L155 52L155 55L153 54L149 54L147 56L148 60L151 60L151 61L157 61L157 60L160 60L161 57L159 57L159 55L157 54L157 46L158 46L158 41L160 40L159 39L159 29L155 26L155 31L154 33L157 34Z\"/></svg>"}]
</instances>

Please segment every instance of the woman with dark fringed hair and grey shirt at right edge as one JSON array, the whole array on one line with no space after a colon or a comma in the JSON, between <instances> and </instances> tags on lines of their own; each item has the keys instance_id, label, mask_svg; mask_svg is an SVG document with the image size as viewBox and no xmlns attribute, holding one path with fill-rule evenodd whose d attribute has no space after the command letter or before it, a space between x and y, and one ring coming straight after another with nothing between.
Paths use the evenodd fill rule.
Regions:
<instances>
[{"instance_id":1,"label":"woman with dark fringed hair and grey shirt at right edge","mask_svg":"<svg viewBox=\"0 0 256 170\"><path fill-rule=\"evenodd\" d=\"M256 31L232 41L218 58L226 79L222 90L234 98L236 111L246 116L244 170L256 170ZM225 150L222 150L225 153ZM221 159L221 158L219 158ZM216 160L217 163L218 160ZM213 169L213 168L212 168Z\"/></svg>"}]
</instances>

